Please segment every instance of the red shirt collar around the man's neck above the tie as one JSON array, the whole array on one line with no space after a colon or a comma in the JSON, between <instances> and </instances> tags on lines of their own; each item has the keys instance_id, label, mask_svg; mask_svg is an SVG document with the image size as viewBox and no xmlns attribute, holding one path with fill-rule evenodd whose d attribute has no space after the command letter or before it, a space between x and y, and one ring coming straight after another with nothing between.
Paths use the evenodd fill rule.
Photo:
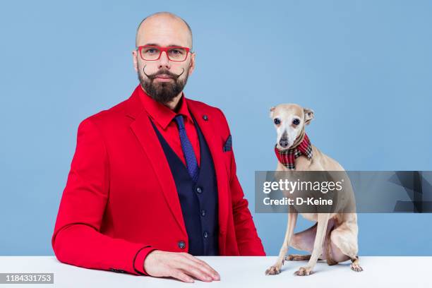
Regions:
<instances>
[{"instance_id":1,"label":"red shirt collar around the man's neck above the tie","mask_svg":"<svg viewBox=\"0 0 432 288\"><path fill-rule=\"evenodd\" d=\"M179 101L179 110L178 112L174 112L169 107L157 102L152 97L150 97L142 87L140 87L139 94L141 102L143 103L144 109L147 113L152 117L152 120L157 121L163 129L166 129L169 123L174 119L175 116L181 114L185 117L185 121L192 121L191 113L188 109L188 104L184 96L184 92L181 93L181 98ZM193 121L192 121L193 122Z\"/></svg>"}]
</instances>

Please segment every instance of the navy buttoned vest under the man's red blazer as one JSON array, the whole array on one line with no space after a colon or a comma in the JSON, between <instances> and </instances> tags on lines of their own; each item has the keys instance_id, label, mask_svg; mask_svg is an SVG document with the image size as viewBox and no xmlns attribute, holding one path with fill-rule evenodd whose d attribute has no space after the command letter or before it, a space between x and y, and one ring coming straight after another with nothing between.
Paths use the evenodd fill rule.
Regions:
<instances>
[{"instance_id":1,"label":"navy buttoned vest under the man's red blazer","mask_svg":"<svg viewBox=\"0 0 432 288\"><path fill-rule=\"evenodd\" d=\"M201 133L196 120L193 119L200 143L198 181L194 183L186 165L176 155L176 152L172 150L151 119L150 122L153 128L155 128L157 138L160 140L176 183L181 212L186 232L188 233L188 253L193 256L219 255L215 167L203 133Z\"/></svg>"}]
</instances>

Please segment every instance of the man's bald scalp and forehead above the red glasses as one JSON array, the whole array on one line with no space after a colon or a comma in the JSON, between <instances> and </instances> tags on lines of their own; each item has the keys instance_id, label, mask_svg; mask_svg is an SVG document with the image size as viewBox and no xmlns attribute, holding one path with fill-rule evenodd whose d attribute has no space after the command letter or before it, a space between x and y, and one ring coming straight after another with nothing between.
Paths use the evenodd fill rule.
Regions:
<instances>
[{"instance_id":1,"label":"man's bald scalp and forehead above the red glasses","mask_svg":"<svg viewBox=\"0 0 432 288\"><path fill-rule=\"evenodd\" d=\"M192 30L185 20L169 12L157 12L144 18L136 30L136 47L183 46L192 50Z\"/></svg>"}]
</instances>

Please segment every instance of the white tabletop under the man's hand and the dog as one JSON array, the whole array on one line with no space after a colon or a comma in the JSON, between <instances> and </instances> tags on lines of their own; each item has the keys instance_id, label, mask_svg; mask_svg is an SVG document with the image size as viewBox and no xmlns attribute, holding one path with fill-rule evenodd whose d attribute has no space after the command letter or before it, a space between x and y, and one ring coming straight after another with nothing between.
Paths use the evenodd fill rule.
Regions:
<instances>
[{"instance_id":1,"label":"white tabletop under the man's hand and the dog","mask_svg":"<svg viewBox=\"0 0 432 288\"><path fill-rule=\"evenodd\" d=\"M432 287L432 257L360 257L363 272L349 261L328 266L318 261L313 275L294 276L306 262L285 262L280 275L265 276L276 257L199 257L220 273L220 282L183 283L172 279L135 276L78 268L54 256L0 256L0 272L54 273L54 284L0 284L1 287ZM36 285L36 286L35 286Z\"/></svg>"}]
</instances>

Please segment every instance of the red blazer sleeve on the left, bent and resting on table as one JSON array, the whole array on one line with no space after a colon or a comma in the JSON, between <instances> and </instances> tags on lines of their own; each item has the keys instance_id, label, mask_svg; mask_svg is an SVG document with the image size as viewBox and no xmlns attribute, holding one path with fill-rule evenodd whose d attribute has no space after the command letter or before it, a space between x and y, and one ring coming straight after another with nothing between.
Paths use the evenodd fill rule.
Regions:
<instances>
[{"instance_id":1,"label":"red blazer sleeve on the left, bent and resting on table","mask_svg":"<svg viewBox=\"0 0 432 288\"><path fill-rule=\"evenodd\" d=\"M145 257L155 247L114 239L100 232L109 197L109 159L91 118L78 126L76 151L56 218L52 248L71 265L147 275Z\"/></svg>"}]
</instances>

